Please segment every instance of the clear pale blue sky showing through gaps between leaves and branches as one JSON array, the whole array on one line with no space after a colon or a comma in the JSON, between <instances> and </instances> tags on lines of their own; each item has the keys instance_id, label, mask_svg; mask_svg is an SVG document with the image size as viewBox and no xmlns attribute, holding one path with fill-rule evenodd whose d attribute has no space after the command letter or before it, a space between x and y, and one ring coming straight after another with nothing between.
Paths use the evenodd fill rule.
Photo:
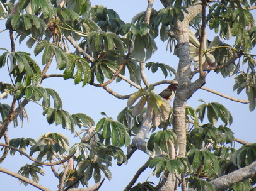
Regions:
<instances>
[{"instance_id":1,"label":"clear pale blue sky showing through gaps between leaves and branches","mask_svg":"<svg viewBox=\"0 0 256 191\"><path fill-rule=\"evenodd\" d=\"M118 0L91 0L92 6L95 4L103 4L103 6L107 6L109 9L114 9L119 14L120 18L125 22L131 22L132 16L136 15L140 11L144 11L147 6L147 1L118 1ZM156 1L154 4L154 9L158 10L162 8L160 1ZM254 17L255 11L254 11ZM3 30L4 24L3 21L0 22L0 31ZM213 39L214 35L211 31L208 33L209 40ZM8 33L0 33L1 43L0 47L8 47L9 46L9 36ZM151 60L159 63L170 64L173 68L177 68L178 59L173 53L166 51L166 42L162 42L161 40L156 40L158 45L158 51L153 55ZM8 47L9 48L9 47ZM10 48L9 48L10 50ZM33 55L33 50L29 50L25 46L25 42L21 43L21 46L16 46L16 50L28 51ZM0 52L2 53L2 52ZM255 49L253 50L254 54L256 54ZM40 63L40 57L35 57L37 63ZM54 69L50 70L49 74L54 74ZM6 72L0 70L0 81L6 81ZM155 74L151 74L151 72L146 73L148 75L149 82L153 83L158 80L163 80L164 76L161 72L156 72ZM167 80L172 80L173 76L168 76ZM245 93L241 93L239 96L236 92L233 92L233 78L227 77L223 79L220 74L215 74L214 72L209 72L207 74L207 80L205 87L209 87L211 89L222 92L223 94L231 95L232 97L237 97L240 99L247 99ZM100 112L105 112L108 116L116 119L117 114L126 106L126 100L116 99L112 95L105 92L105 90L92 87L91 85L86 85L85 87L81 87L81 84L74 85L73 80L63 80L61 78L54 79L45 79L42 83L43 87L51 87L55 89L59 95L61 96L63 102L63 109L68 111L71 114L83 112L88 116L92 117L95 120L95 123L98 122L103 116ZM155 88L156 92L161 92L161 90L165 89L167 85L159 85ZM136 89L131 89L128 84L125 83L112 83L110 88L116 90L121 95L131 94L135 92ZM187 104L196 108L201 104L199 99L203 99L206 102L219 102L227 107L232 116L233 116L233 124L231 125L231 129L235 133L236 138L244 139L249 142L255 142L255 111L250 112L248 109L248 104L240 104L237 102L230 101L228 99L223 99L218 95L211 94L204 90L198 90L195 94L189 99ZM10 99L5 99L3 102L9 103ZM8 134L9 138L18 138L18 137L32 137L33 139L37 139L41 134L44 134L48 131L51 132L59 132L66 134L71 141L71 145L78 142L78 138L73 138L74 134L70 134L69 131L62 129L61 126L55 126L52 124L49 126L44 116L42 116L42 109L35 103L30 102L26 106L26 110L29 115L29 123L24 124L23 127L18 126L17 128L13 128L9 126ZM21 124L21 123L20 123ZM79 129L78 129L79 130ZM3 140L1 140L3 141ZM236 143L236 147L240 147L241 145ZM125 149L124 149L125 150ZM28 151L29 152L29 151ZM136 154L132 156L131 160L127 165L116 166L115 161L113 161L113 167L110 168L112 171L112 181L109 182L105 180L100 190L124 190L125 186L129 183L131 178L136 173L137 169L141 167L146 160L148 160L148 156L144 155L141 151L136 151ZM9 170L13 170L14 172L18 172L20 166L25 165L26 163L30 163L25 156L20 156L18 153L15 156L8 156L6 160L1 164L4 168L8 168ZM45 187L49 187L51 190L57 190L57 179L51 175L50 170L44 168L45 177L41 177L42 185ZM50 175L49 175L50 173ZM139 182L144 182L149 177L149 181L154 181L155 178L151 175L152 170L146 170L142 177L139 178ZM155 182L158 183L158 182ZM30 191L35 190L34 187L28 185L25 187L24 185L19 185L18 180L10 177L9 175L5 175L0 173L0 184L1 187L6 190L16 190L17 188L20 191ZM93 182L91 182L91 186Z\"/></svg>"}]
</instances>

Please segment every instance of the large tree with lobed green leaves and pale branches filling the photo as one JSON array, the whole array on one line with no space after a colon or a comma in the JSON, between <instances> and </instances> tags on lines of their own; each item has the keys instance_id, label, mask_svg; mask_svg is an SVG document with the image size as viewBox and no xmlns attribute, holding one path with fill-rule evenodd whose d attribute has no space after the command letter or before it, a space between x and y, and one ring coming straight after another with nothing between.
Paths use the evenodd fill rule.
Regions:
<instances>
[{"instance_id":1,"label":"large tree with lobed green leaves and pale branches filling the photo","mask_svg":"<svg viewBox=\"0 0 256 191\"><path fill-rule=\"evenodd\" d=\"M256 143L235 138L229 128L233 117L223 104L201 100L202 104L193 108L187 106L187 101L204 89L247 103L251 112L255 110L256 62L252 51L256 26L251 13L255 1L162 0L163 8L158 11L153 3L148 0L146 11L136 14L131 23L124 23L113 9L91 7L88 0L1 1L0 14L6 19L11 48L1 48L0 68L7 68L6 79L9 75L11 82L1 82L0 98L12 99L8 98L9 104L0 104L0 162L11 157L8 153L18 152L32 163L21 166L18 173L2 166L0 172L25 185L49 190L39 182L49 166L59 190L99 190L105 180L102 177L112 177L113 160L122 168L141 150L149 159L125 190L253 188ZM207 28L218 36L209 38ZM158 48L157 38L168 41L178 57L177 64L149 60ZM233 45L229 45L232 40ZM35 59L18 50L17 41L25 41ZM162 78L151 83L145 68L153 74L161 69L163 76L172 80ZM234 77L233 89L238 94L246 92L248 100L204 87L209 73ZM71 114L62 109L58 92L42 84L45 79L54 82L55 77L74 80L84 88L100 87L117 99L127 100L127 107L117 119L102 112L104 117L97 123L87 114ZM121 95L119 90L110 89L115 81L130 85L131 93ZM178 85L171 107L170 100L158 95L154 87L174 82ZM43 109L49 124L62 126L80 141L71 145L66 134L52 132L37 140L9 139L10 124L21 126L18 117L23 123L26 107L32 102ZM234 141L243 146L234 148ZM57 165L62 167L60 173ZM135 185L146 168L152 168L160 178L158 185ZM91 179L95 185L84 188Z\"/></svg>"}]
</instances>

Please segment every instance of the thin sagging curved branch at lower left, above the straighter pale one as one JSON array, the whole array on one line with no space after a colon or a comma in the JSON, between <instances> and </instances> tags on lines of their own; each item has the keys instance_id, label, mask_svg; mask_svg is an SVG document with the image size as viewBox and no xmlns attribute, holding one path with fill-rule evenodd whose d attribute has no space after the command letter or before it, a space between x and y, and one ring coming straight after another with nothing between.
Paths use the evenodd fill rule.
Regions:
<instances>
[{"instance_id":1,"label":"thin sagging curved branch at lower left, above the straighter pale one","mask_svg":"<svg viewBox=\"0 0 256 191\"><path fill-rule=\"evenodd\" d=\"M25 152L19 150L18 148L14 147L14 146L7 145L7 144L4 144L4 143L0 143L0 146L5 146L5 147L11 148L11 149L13 149L13 150L15 150L15 151L18 151L20 154L26 156L28 159L32 160L33 162L35 162L35 163L37 163L37 164L39 164L39 165L44 165L44 166L60 165L60 164L62 164L62 163L64 163L64 162L66 162L67 160L69 160L69 158L71 158L71 157L74 155L74 153L73 153L72 155L69 155L69 156L67 156L66 158L64 158L64 159L62 159L62 160L60 160L60 161L54 162L54 163L43 163L43 162L41 162L41 161L37 161L37 160L36 160L35 158L33 158L32 156L26 154Z\"/></svg>"}]
</instances>

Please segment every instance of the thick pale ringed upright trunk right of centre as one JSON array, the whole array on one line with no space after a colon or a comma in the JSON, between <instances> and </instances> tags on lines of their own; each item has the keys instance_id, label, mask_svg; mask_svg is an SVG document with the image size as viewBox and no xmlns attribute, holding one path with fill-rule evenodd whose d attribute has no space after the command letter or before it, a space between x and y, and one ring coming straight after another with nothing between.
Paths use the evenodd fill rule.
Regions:
<instances>
[{"instance_id":1,"label":"thick pale ringed upright trunk right of centre","mask_svg":"<svg viewBox=\"0 0 256 191\"><path fill-rule=\"evenodd\" d=\"M198 2L197 2L198 3ZM189 14L185 14L185 19L178 21L175 27L170 31L170 36L175 37L178 42L178 87L173 101L173 131L177 135L178 157L186 155L186 119L185 109L187 100L194 92L205 82L204 77L199 77L194 83L191 82L190 53L189 53L189 23L201 12L201 5L190 6ZM166 182L160 188L161 191L172 191L177 188L177 178L180 175L169 174ZM183 185L185 188L185 185Z\"/></svg>"}]
</instances>

